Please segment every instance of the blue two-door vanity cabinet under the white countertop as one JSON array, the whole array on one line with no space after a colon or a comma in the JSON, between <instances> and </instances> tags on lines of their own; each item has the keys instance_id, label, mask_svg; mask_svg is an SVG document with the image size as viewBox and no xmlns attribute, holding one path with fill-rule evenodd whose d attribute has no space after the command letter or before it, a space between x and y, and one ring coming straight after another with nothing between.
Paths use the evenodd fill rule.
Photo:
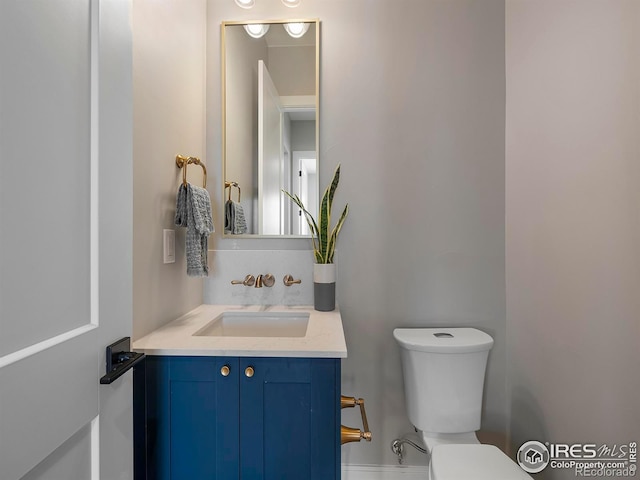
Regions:
<instances>
[{"instance_id":1,"label":"blue two-door vanity cabinet under the white countertop","mask_svg":"<svg viewBox=\"0 0 640 480\"><path fill-rule=\"evenodd\" d=\"M148 356L144 392L148 480L340 478L339 359Z\"/></svg>"}]
</instances>

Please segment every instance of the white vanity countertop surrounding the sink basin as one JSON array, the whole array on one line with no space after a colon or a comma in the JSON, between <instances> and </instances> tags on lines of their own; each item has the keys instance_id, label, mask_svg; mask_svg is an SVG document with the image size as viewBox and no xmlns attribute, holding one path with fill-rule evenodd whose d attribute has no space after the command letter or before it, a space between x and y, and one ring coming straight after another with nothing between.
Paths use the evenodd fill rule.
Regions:
<instances>
[{"instance_id":1,"label":"white vanity countertop surrounding the sink basin","mask_svg":"<svg viewBox=\"0 0 640 480\"><path fill-rule=\"evenodd\" d=\"M223 312L309 313L304 337L224 337L194 336ZM200 305L133 342L133 350L147 355L312 357L344 358L344 339L339 310L319 312L307 306L283 305Z\"/></svg>"}]
</instances>

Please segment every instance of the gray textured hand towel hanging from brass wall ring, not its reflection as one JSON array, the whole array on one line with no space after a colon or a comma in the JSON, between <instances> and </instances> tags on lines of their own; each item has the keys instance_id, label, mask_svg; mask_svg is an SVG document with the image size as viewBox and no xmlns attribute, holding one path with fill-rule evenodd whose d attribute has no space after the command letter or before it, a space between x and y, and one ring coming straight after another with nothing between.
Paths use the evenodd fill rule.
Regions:
<instances>
[{"instance_id":1,"label":"gray textured hand towel hanging from brass wall ring, not its reflection","mask_svg":"<svg viewBox=\"0 0 640 480\"><path fill-rule=\"evenodd\" d=\"M214 227L211 199L206 189L190 184L180 185L176 199L175 224L187 227L187 275L208 276L207 250L209 235L213 233Z\"/></svg>"}]
</instances>

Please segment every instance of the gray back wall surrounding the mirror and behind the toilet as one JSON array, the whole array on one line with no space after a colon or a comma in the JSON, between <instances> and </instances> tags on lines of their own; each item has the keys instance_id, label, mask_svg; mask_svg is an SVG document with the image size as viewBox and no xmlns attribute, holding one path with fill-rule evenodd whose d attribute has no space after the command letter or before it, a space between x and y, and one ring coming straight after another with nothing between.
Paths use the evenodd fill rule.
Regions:
<instances>
[{"instance_id":1,"label":"gray back wall surrounding the mirror and behind the toilet","mask_svg":"<svg viewBox=\"0 0 640 480\"><path fill-rule=\"evenodd\" d=\"M320 185L342 163L335 201L348 201L351 211L336 257L349 349L343 393L366 399L374 440L344 446L343 461L393 464L391 440L411 429L396 326L471 325L493 335L483 428L501 436L504 1L305 0L292 11L280 0L262 0L245 11L209 0L212 189L222 182L220 22L292 15L322 21ZM212 191L221 212L222 193ZM211 247L308 249L309 242L216 234ZM348 413L344 419L357 424Z\"/></svg>"}]
</instances>

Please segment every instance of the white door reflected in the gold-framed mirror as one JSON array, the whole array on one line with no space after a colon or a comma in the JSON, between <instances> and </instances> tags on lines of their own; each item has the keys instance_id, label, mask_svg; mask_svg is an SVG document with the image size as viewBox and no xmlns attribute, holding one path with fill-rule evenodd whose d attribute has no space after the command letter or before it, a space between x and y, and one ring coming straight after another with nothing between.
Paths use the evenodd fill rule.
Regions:
<instances>
[{"instance_id":1,"label":"white door reflected in the gold-framed mirror","mask_svg":"<svg viewBox=\"0 0 640 480\"><path fill-rule=\"evenodd\" d=\"M282 103L262 60L258 60L258 233L280 235Z\"/></svg>"}]
</instances>

